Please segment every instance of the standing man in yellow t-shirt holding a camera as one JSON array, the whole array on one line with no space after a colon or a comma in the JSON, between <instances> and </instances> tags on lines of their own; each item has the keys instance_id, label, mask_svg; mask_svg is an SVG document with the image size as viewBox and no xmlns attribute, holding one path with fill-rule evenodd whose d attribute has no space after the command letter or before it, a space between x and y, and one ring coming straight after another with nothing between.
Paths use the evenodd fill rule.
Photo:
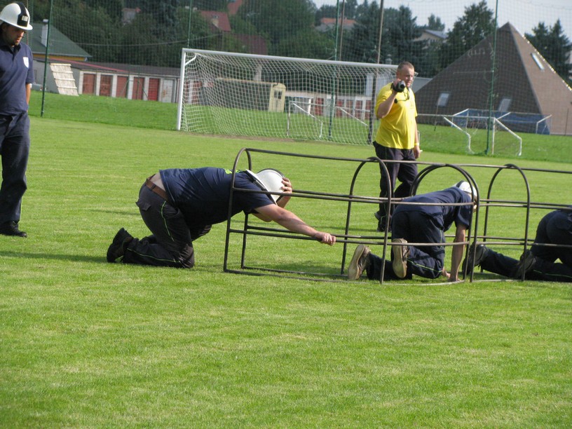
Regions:
<instances>
[{"instance_id":1,"label":"standing man in yellow t-shirt holding a camera","mask_svg":"<svg viewBox=\"0 0 572 429\"><path fill-rule=\"evenodd\" d=\"M411 90L415 69L411 62L401 62L397 66L395 80L383 86L377 95L376 116L380 119L379 128L374 141L376 156L388 161L415 161L421 154L417 133L417 108L415 95ZM411 186L417 176L416 163L386 163L389 173L389 183L393 197L403 198L411 195ZM385 171L381 168L379 181L380 198L389 196L386 185ZM395 181L399 179L400 186L395 189ZM394 191L395 189L395 191ZM378 221L377 231L385 231L388 213L387 203L379 204L375 213Z\"/></svg>"}]
</instances>

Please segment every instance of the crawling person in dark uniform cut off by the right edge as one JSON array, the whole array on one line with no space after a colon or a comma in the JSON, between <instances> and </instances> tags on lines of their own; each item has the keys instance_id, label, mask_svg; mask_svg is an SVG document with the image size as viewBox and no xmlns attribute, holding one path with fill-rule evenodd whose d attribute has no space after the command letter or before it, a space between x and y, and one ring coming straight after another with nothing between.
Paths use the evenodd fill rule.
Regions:
<instances>
[{"instance_id":1,"label":"crawling person in dark uniform cut off by the right edge","mask_svg":"<svg viewBox=\"0 0 572 429\"><path fill-rule=\"evenodd\" d=\"M548 244L545 246L544 244ZM560 245L560 246L550 246ZM568 247L563 247L568 246ZM572 206L554 210L540 219L530 250L520 259L477 245L469 252L468 269L480 266L485 271L505 277L552 282L572 282ZM474 259L473 259L473 255ZM560 260L561 263L557 262ZM469 271L470 273L470 271Z\"/></svg>"}]
</instances>

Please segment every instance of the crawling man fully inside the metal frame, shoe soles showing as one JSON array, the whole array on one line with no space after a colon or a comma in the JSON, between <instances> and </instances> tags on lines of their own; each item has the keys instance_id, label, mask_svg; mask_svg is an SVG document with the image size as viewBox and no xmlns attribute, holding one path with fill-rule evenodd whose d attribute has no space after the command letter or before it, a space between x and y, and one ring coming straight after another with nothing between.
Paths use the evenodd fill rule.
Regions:
<instances>
[{"instance_id":1,"label":"crawling man fully inside the metal frame, shoe soles showing","mask_svg":"<svg viewBox=\"0 0 572 429\"><path fill-rule=\"evenodd\" d=\"M468 182L458 182L442 191L421 193L404 198L391 218L391 260L384 266L383 280L411 279L412 275L458 280L464 245L451 251L451 271L444 268L445 249L442 245L407 245L407 243L445 243L444 233L455 224L454 243L463 243L476 207L477 191ZM427 203L430 205L423 205ZM458 205L452 205L458 204ZM348 266L348 279L357 280L366 273L369 280L381 277L383 259L366 245L358 245Z\"/></svg>"}]
</instances>

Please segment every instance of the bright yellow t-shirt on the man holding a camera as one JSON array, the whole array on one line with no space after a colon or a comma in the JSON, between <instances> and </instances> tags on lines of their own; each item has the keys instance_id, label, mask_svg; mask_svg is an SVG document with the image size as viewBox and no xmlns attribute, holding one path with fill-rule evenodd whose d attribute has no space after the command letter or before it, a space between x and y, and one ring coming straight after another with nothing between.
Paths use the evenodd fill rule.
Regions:
<instances>
[{"instance_id":1,"label":"bright yellow t-shirt on the man holding a camera","mask_svg":"<svg viewBox=\"0 0 572 429\"><path fill-rule=\"evenodd\" d=\"M388 83L381 88L377 95L376 112L379 104L387 100L390 95L391 83ZM417 116L415 95L410 88L405 88L402 93L397 94L395 100L397 102L393 102L388 115L379 121L376 142L381 146L395 149L413 149L416 132L415 118Z\"/></svg>"}]
</instances>

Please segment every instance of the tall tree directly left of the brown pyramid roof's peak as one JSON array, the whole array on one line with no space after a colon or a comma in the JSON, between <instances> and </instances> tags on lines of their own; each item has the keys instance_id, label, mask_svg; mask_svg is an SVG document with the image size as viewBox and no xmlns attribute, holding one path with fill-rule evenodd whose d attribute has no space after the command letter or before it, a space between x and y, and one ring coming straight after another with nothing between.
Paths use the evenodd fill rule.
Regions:
<instances>
[{"instance_id":1,"label":"tall tree directly left of the brown pyramid roof's peak","mask_svg":"<svg viewBox=\"0 0 572 429\"><path fill-rule=\"evenodd\" d=\"M453 25L442 44L440 57L442 68L447 67L470 48L495 31L494 13L486 7L486 1L465 8L465 14Z\"/></svg>"}]
</instances>

